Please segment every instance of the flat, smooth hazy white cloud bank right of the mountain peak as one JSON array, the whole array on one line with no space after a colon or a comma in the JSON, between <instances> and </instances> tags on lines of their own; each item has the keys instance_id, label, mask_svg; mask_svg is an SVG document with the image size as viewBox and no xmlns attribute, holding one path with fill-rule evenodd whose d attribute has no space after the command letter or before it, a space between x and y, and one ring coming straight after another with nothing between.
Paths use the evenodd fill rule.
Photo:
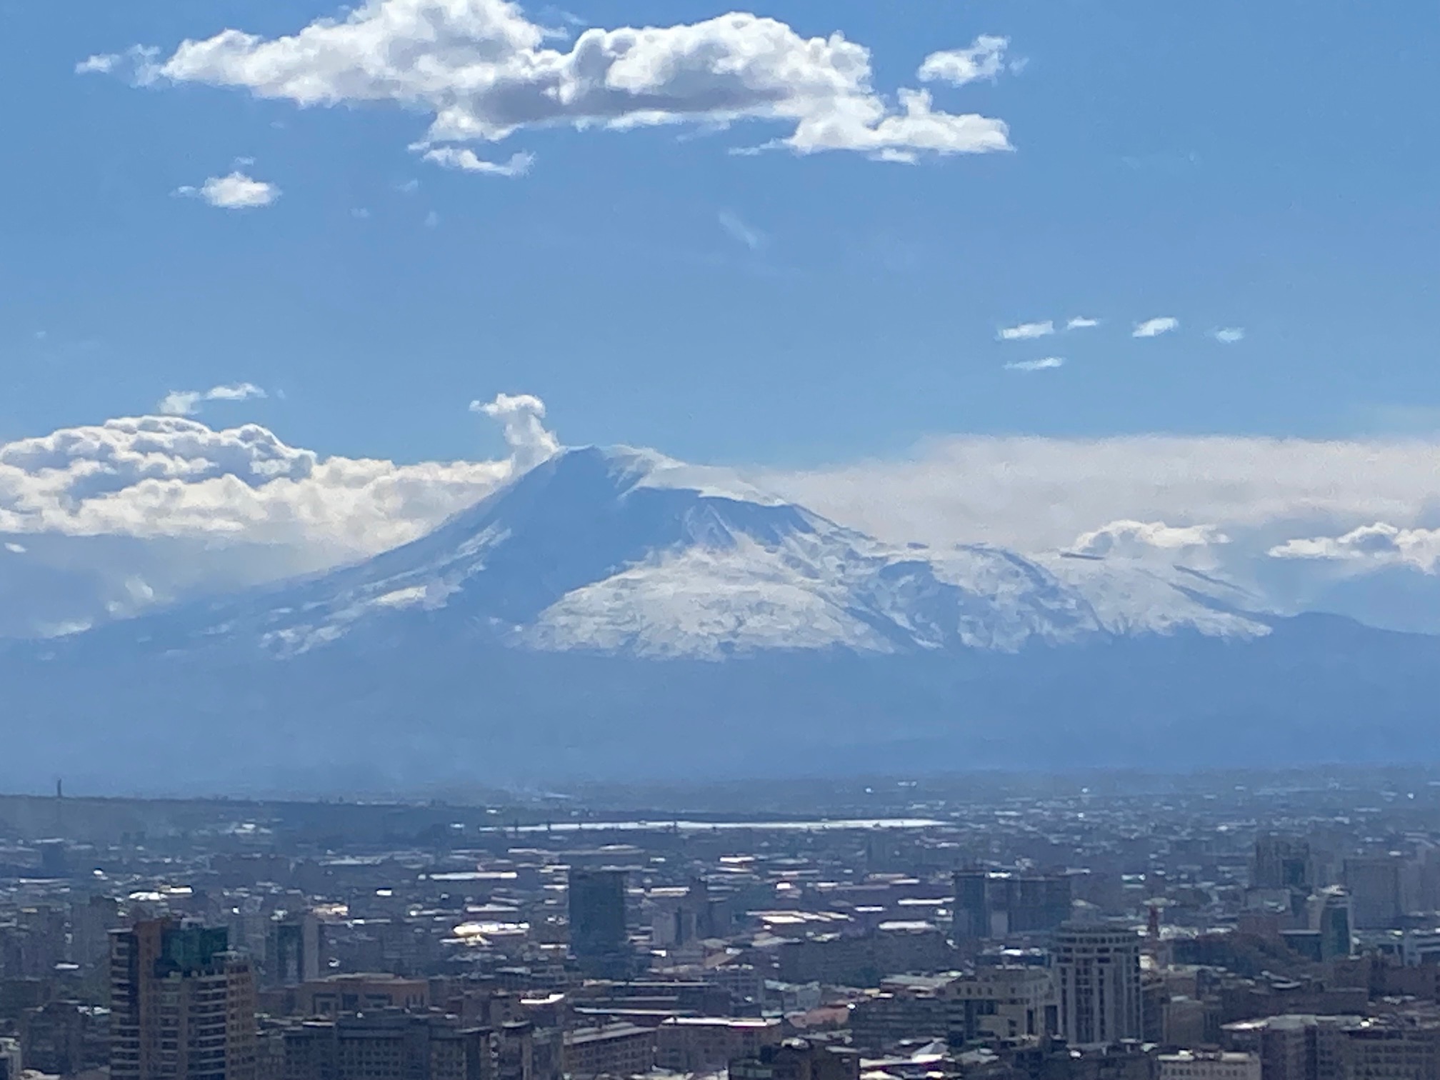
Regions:
<instances>
[{"instance_id":1,"label":"flat, smooth hazy white cloud bank right of the mountain peak","mask_svg":"<svg viewBox=\"0 0 1440 1080\"><path fill-rule=\"evenodd\" d=\"M1207 523L1261 554L1297 536L1371 521L1440 521L1437 439L1267 439L1129 435L1102 439L956 436L904 459L756 482L896 543L1067 547L1112 521ZM1260 534L1247 547L1243 537Z\"/></svg>"}]
</instances>

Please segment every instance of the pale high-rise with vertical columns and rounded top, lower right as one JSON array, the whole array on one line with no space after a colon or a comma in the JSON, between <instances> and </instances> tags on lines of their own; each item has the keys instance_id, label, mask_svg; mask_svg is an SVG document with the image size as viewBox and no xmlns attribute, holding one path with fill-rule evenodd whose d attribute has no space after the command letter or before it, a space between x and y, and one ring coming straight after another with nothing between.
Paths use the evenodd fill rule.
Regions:
<instances>
[{"instance_id":1,"label":"pale high-rise with vertical columns and rounded top, lower right","mask_svg":"<svg viewBox=\"0 0 1440 1080\"><path fill-rule=\"evenodd\" d=\"M1054 940L1060 1034L1077 1047L1140 1038L1140 936L1067 923Z\"/></svg>"}]
</instances>

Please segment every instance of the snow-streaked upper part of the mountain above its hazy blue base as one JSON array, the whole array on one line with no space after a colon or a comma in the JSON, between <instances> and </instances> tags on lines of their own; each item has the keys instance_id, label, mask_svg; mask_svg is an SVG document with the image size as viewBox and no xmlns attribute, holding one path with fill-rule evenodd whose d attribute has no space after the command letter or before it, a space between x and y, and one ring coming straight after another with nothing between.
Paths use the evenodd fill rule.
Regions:
<instances>
[{"instance_id":1,"label":"snow-streaked upper part of the mountain above its hazy blue base","mask_svg":"<svg viewBox=\"0 0 1440 1080\"><path fill-rule=\"evenodd\" d=\"M143 621L168 649L292 657L441 631L530 651L864 654L1266 634L1224 583L981 546L894 547L648 451L564 451L374 559Z\"/></svg>"}]
</instances>

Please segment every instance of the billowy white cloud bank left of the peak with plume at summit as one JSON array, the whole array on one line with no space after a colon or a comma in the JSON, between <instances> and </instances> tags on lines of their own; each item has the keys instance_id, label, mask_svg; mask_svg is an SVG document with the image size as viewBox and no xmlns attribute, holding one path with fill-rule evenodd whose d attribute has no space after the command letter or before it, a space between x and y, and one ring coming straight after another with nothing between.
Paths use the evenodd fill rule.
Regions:
<instances>
[{"instance_id":1,"label":"billowy white cloud bank left of the peak with plume at summit","mask_svg":"<svg viewBox=\"0 0 1440 1080\"><path fill-rule=\"evenodd\" d=\"M183 416L0 444L0 533L243 541L281 552L275 573L320 569L413 540L559 448L536 397L474 409L504 425L513 456L321 458L259 425L216 431Z\"/></svg>"}]
</instances>

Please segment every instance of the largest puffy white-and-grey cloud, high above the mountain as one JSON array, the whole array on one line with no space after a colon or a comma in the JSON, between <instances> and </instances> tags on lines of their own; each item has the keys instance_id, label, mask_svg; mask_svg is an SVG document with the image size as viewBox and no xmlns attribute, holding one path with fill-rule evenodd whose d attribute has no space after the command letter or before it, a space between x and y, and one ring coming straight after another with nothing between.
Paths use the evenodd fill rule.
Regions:
<instances>
[{"instance_id":1,"label":"largest puffy white-and-grey cloud, high above the mountain","mask_svg":"<svg viewBox=\"0 0 1440 1080\"><path fill-rule=\"evenodd\" d=\"M289 35L229 29L171 55L138 52L137 82L194 82L301 107L386 102L428 112L422 148L569 125L770 121L766 147L912 161L1009 150L1004 121L936 111L871 82L870 50L736 12L700 23L586 29L567 49L507 0L369 0ZM976 63L988 63L984 49ZM92 58L115 71L120 58ZM477 158L478 160L478 158Z\"/></svg>"}]
</instances>

